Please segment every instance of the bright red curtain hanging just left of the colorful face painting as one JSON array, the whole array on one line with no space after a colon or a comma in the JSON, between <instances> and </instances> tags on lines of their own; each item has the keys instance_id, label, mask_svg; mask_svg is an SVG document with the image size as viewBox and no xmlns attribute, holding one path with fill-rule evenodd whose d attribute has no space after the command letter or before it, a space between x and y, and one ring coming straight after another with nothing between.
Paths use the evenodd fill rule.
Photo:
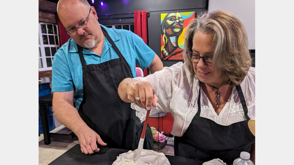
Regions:
<instances>
[{"instance_id":1,"label":"bright red curtain hanging just left of the colorful face painting","mask_svg":"<svg viewBox=\"0 0 294 165\"><path fill-rule=\"evenodd\" d=\"M145 44L147 44L147 11L134 12L134 33L141 37ZM136 64L136 67L140 67ZM148 75L148 69L143 69L144 77Z\"/></svg>"}]
</instances>

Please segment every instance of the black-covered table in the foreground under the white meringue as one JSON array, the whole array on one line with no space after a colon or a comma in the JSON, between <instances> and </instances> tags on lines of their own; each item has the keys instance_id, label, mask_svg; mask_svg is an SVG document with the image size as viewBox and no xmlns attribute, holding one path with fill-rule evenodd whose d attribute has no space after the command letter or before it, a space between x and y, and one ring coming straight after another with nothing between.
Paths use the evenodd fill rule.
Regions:
<instances>
[{"instance_id":1,"label":"black-covered table in the foreground under the white meringue","mask_svg":"<svg viewBox=\"0 0 294 165\"><path fill-rule=\"evenodd\" d=\"M80 144L76 144L60 157L52 161L49 165L60 164L101 164L111 165L119 154L128 152L126 149L115 149L99 146L99 152L94 154L83 154L81 152ZM188 159L184 157L166 155L171 165L185 164L185 165L201 165L203 161Z\"/></svg>"}]
</instances>

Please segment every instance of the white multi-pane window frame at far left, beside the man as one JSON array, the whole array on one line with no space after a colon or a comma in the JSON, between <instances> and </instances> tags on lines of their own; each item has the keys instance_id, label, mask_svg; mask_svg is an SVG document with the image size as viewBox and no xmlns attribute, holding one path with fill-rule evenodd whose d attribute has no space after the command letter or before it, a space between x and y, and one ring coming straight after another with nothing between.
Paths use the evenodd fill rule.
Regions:
<instances>
[{"instance_id":1,"label":"white multi-pane window frame at far left, beside the man","mask_svg":"<svg viewBox=\"0 0 294 165\"><path fill-rule=\"evenodd\" d=\"M42 33L42 30L41 30L41 24L46 24L46 33ZM43 63L43 68L39 68L39 71L47 71L47 70L52 70L52 67L47 67L47 62L46 62L46 57L50 57L51 58L51 62L53 64L53 58L54 58L54 55L52 55L52 52L51 52L51 47L57 47L57 50L59 48L59 45L49 45L49 44L44 44L43 43L43 37L42 35L53 35L54 36L54 41L55 41L55 36L57 35L57 40L58 40L58 43L60 43L59 41L59 32L58 32L58 26L56 25L56 31L57 31L57 34L55 34L54 32L54 27L53 27L53 34L48 34L48 28L47 28L47 25L56 25L54 23L46 23L46 22L39 22L39 48L41 48L41 57L38 57L39 59L41 58L42 60L42 63ZM49 38L48 38L48 43L49 43ZM56 41L55 41L56 43ZM50 47L50 54L51 56L46 56L45 54L45 47ZM38 48L38 51L39 51L39 48ZM56 51L57 51L56 50ZM39 60L38 60L39 62Z\"/></svg>"}]
</instances>

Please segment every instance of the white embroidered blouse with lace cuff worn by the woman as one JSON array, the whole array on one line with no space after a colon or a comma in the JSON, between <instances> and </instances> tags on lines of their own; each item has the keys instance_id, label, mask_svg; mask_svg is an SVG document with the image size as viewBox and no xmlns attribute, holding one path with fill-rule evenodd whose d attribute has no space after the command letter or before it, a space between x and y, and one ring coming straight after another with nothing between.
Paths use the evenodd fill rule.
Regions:
<instances>
[{"instance_id":1,"label":"white embroidered blouse with lace cuff worn by the woman","mask_svg":"<svg viewBox=\"0 0 294 165\"><path fill-rule=\"evenodd\" d=\"M190 85L191 74L182 62L171 67L164 67L161 71L146 77L134 78L138 81L148 81L159 100L157 108L152 107L150 114L157 112L168 112L173 115L173 129L171 134L182 136L190 125L194 115L198 111L199 80L194 76L193 85ZM255 118L255 68L250 67L247 76L240 84L247 104L249 118ZM234 87L227 103L217 115L211 102L201 88L201 112L200 116L213 120L220 125L230 125L246 120L237 89ZM137 116L145 120L146 111L142 113L138 106L132 103L136 109ZM142 120L142 119L141 119Z\"/></svg>"}]
</instances>

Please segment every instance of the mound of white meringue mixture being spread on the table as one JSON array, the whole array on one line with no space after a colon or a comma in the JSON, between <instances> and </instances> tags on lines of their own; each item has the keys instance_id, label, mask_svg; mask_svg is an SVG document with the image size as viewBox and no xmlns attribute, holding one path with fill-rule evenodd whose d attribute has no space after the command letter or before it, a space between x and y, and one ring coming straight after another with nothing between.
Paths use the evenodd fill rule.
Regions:
<instances>
[{"instance_id":1,"label":"mound of white meringue mixture being spread on the table","mask_svg":"<svg viewBox=\"0 0 294 165\"><path fill-rule=\"evenodd\" d=\"M138 161L135 160L136 155L137 149L119 154L112 165L170 165L170 162L163 153L155 152L153 150L142 149L141 157Z\"/></svg>"}]
</instances>

